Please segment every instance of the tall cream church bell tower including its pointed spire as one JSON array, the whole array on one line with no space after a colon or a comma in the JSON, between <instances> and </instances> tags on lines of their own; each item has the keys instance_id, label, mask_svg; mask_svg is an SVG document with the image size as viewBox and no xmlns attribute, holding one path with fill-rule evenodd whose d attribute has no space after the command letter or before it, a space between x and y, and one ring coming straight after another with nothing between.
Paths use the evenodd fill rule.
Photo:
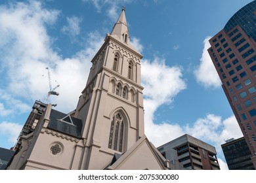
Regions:
<instances>
[{"instance_id":1,"label":"tall cream church bell tower including its pointed spire","mask_svg":"<svg viewBox=\"0 0 256 183\"><path fill-rule=\"evenodd\" d=\"M144 135L142 55L131 45L125 8L92 59L75 118L83 122L81 169L100 169Z\"/></svg>"}]
</instances>

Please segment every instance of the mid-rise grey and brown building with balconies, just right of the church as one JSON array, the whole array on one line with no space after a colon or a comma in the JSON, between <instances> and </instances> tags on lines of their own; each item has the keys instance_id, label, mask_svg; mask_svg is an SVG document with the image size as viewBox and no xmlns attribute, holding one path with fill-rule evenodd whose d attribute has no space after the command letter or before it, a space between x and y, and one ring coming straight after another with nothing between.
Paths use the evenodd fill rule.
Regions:
<instances>
[{"instance_id":1,"label":"mid-rise grey and brown building with balconies, just right of the church","mask_svg":"<svg viewBox=\"0 0 256 183\"><path fill-rule=\"evenodd\" d=\"M158 150L166 159L179 161L186 169L220 169L215 147L187 134L161 145Z\"/></svg>"}]
</instances>

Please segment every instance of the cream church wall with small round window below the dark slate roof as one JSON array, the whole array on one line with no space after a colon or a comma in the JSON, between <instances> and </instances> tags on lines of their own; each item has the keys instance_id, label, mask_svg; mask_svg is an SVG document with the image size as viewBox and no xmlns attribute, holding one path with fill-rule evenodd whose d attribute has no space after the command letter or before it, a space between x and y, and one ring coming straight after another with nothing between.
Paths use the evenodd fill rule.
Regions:
<instances>
[{"instance_id":1,"label":"cream church wall with small round window below the dark slate roof","mask_svg":"<svg viewBox=\"0 0 256 183\"><path fill-rule=\"evenodd\" d=\"M47 129L39 134L29 160L34 162L33 166L43 169L71 169L75 141L78 142L78 139Z\"/></svg>"}]
</instances>

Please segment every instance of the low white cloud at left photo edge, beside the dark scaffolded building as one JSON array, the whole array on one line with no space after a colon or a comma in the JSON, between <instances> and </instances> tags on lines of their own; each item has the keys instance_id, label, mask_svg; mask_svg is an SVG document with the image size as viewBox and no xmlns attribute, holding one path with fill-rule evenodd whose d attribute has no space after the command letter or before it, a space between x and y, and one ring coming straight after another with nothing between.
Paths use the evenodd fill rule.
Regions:
<instances>
[{"instance_id":1,"label":"low white cloud at left photo edge, beside the dark scaffolded building","mask_svg":"<svg viewBox=\"0 0 256 183\"><path fill-rule=\"evenodd\" d=\"M1 122L0 123L0 133L1 135L7 135L7 141L11 142L12 144L16 143L18 134L22 129L23 125L19 125L16 123L11 122Z\"/></svg>"}]
</instances>

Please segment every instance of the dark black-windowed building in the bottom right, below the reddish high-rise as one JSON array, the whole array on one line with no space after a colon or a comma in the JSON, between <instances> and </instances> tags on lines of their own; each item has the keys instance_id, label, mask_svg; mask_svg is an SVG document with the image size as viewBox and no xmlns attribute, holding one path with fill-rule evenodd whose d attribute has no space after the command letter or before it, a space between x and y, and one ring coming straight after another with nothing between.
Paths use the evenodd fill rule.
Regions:
<instances>
[{"instance_id":1,"label":"dark black-windowed building in the bottom right, below the reddish high-rise","mask_svg":"<svg viewBox=\"0 0 256 183\"><path fill-rule=\"evenodd\" d=\"M229 139L221 145L230 170L255 170L251 162L251 152L244 137Z\"/></svg>"}]
</instances>

